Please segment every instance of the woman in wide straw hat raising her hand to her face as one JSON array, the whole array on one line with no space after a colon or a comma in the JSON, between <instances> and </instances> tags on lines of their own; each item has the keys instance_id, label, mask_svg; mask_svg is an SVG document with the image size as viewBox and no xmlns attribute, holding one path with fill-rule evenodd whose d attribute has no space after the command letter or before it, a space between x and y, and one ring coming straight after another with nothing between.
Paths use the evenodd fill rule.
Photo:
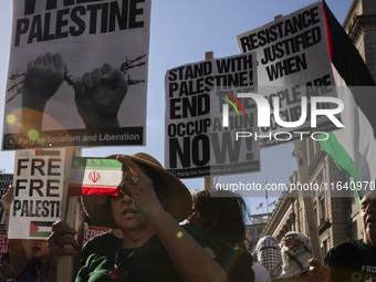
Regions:
<instances>
[{"instance_id":1,"label":"woman in wide straw hat raising her hand to her face","mask_svg":"<svg viewBox=\"0 0 376 282\"><path fill-rule=\"evenodd\" d=\"M118 196L84 196L82 201L96 224L122 230L123 246L92 254L76 282L227 281L224 271L209 254L212 250L203 249L215 247L210 236L199 226L178 224L191 211L187 187L148 154L108 158L124 165ZM49 239L53 271L59 255L75 254L74 250L62 248L65 243L77 247L73 238L64 234L75 231L66 222L54 223Z\"/></svg>"}]
</instances>

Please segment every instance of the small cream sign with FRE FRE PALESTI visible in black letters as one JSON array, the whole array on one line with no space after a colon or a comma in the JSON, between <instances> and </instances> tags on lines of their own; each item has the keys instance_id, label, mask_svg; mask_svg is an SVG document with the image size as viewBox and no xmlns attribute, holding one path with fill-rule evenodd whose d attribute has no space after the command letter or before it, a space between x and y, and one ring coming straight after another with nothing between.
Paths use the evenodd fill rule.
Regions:
<instances>
[{"instance_id":1,"label":"small cream sign with FRE FRE PALESTI visible in black letters","mask_svg":"<svg viewBox=\"0 0 376 282\"><path fill-rule=\"evenodd\" d=\"M19 150L8 237L45 239L60 220L65 150Z\"/></svg>"}]
</instances>

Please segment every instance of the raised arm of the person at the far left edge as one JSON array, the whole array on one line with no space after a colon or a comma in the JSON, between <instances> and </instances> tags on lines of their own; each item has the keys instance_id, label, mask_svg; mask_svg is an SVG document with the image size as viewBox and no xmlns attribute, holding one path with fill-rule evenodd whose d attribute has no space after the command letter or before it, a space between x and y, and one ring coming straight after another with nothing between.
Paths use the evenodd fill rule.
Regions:
<instances>
[{"instance_id":1,"label":"raised arm of the person at the far left edge","mask_svg":"<svg viewBox=\"0 0 376 282\"><path fill-rule=\"evenodd\" d=\"M14 200L14 187L10 186L8 192L6 192L1 202L6 212L7 231L9 230L9 212L10 206ZM13 276L20 276L28 265L28 257L23 249L21 239L8 239L10 246L10 261L12 263Z\"/></svg>"}]
</instances>

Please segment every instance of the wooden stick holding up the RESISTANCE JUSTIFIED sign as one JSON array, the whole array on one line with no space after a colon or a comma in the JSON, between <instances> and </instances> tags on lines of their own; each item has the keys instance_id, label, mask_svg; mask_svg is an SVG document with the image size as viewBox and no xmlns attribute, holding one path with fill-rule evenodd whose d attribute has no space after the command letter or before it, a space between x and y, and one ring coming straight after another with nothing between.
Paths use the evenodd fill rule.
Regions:
<instances>
[{"instance_id":1,"label":"wooden stick holding up the RESISTANCE JUSTIFIED sign","mask_svg":"<svg viewBox=\"0 0 376 282\"><path fill-rule=\"evenodd\" d=\"M306 155L303 150L303 140L294 142L294 152L297 164L299 179L302 185L310 184ZM304 194L304 191L303 191ZM312 196L303 195L305 216L309 223L310 240L312 246L312 257L323 265L323 258L320 248L318 230L314 218Z\"/></svg>"}]
</instances>

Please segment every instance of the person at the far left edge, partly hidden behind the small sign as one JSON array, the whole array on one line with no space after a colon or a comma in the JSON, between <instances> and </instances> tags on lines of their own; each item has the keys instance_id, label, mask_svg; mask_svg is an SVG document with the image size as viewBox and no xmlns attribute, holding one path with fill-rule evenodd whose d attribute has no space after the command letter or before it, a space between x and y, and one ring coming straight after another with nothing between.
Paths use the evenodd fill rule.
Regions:
<instances>
[{"instance_id":1,"label":"person at the far left edge, partly hidden behind the small sign","mask_svg":"<svg viewBox=\"0 0 376 282\"><path fill-rule=\"evenodd\" d=\"M7 194L1 198L6 217L7 228L9 224L9 211L14 200L14 187L10 186ZM13 276L17 282L44 282L50 274L49 249L45 240L32 240L33 261L29 260L21 239L8 239L10 244L10 259L12 262Z\"/></svg>"}]
</instances>

